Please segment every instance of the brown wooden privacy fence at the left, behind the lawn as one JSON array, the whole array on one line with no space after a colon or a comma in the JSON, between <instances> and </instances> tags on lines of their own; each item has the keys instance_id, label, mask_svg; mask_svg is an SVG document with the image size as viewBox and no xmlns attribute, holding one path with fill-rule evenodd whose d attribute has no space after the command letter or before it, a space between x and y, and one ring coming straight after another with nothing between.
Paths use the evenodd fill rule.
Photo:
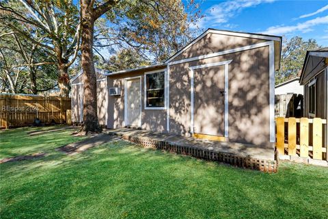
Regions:
<instances>
[{"instance_id":1,"label":"brown wooden privacy fence at the left, behind the lawn","mask_svg":"<svg viewBox=\"0 0 328 219\"><path fill-rule=\"evenodd\" d=\"M0 94L0 127L32 125L36 118L45 124L66 123L70 108L68 97Z\"/></svg>"}]
</instances>

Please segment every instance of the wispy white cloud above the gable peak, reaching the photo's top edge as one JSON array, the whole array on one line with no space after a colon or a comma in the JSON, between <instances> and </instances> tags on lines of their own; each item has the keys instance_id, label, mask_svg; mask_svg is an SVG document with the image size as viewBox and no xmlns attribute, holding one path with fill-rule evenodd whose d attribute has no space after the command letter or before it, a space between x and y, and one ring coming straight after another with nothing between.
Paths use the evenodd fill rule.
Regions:
<instances>
[{"instance_id":1,"label":"wispy white cloud above the gable peak, reaching the photo's top edge","mask_svg":"<svg viewBox=\"0 0 328 219\"><path fill-rule=\"evenodd\" d=\"M260 3L271 3L275 0L234 0L224 1L205 11L205 17L202 18L196 26L217 25L227 23L230 18L239 14L244 8L254 7Z\"/></svg>"}]
</instances>

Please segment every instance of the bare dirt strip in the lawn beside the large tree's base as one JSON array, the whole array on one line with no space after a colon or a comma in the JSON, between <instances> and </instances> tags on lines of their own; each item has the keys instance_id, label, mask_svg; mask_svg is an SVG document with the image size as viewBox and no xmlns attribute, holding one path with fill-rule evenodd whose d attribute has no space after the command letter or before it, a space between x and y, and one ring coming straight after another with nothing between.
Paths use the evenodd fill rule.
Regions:
<instances>
[{"instance_id":1,"label":"bare dirt strip in the lawn beside the large tree's base","mask_svg":"<svg viewBox=\"0 0 328 219\"><path fill-rule=\"evenodd\" d=\"M111 135L102 133L102 134L98 134L96 136L87 138L86 140L82 140L80 142L74 142L72 144L67 144L65 146L61 146L58 148L58 151L64 152L68 155L74 155L74 154L86 151L87 149L93 148L94 146L98 146L100 144L112 142L115 140L120 140L120 138L118 136L111 136Z\"/></svg>"}]
</instances>

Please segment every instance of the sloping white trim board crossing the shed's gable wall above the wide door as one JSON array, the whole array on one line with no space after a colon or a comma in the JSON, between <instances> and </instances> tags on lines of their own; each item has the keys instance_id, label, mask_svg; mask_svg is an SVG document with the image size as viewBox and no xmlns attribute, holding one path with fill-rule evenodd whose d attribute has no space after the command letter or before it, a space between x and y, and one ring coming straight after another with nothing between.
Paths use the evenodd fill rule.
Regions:
<instances>
[{"instance_id":1,"label":"sloping white trim board crossing the shed's gable wall above the wide door","mask_svg":"<svg viewBox=\"0 0 328 219\"><path fill-rule=\"evenodd\" d=\"M206 58L209 58L209 57L215 57L215 56L219 56L219 55L226 55L226 54L230 54L230 53L237 53L237 52L240 52L240 51L245 51L245 50L249 50L249 49L256 49L256 48L260 48L260 47L267 47L271 44L273 44L273 41L260 42L260 43L251 44L251 45L245 46L245 47L238 47L236 49L229 49L229 50L226 50L226 51L219 51L217 53L210 53L210 54L207 54L207 55L200 55L200 56L197 56L197 57L190 57L190 58L187 58L187 59L184 59L184 60L169 62L169 64L174 65L174 64L181 64L181 63L184 63L184 62L193 62L193 61L196 61L196 60L203 60L203 59L206 59Z\"/></svg>"}]
</instances>

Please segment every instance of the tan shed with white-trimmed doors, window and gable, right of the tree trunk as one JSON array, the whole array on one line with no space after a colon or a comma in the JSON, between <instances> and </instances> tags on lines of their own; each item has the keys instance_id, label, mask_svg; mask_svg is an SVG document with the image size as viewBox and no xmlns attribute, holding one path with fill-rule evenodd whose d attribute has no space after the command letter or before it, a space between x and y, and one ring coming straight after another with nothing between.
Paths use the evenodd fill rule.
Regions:
<instances>
[{"instance_id":1,"label":"tan shed with white-trimmed doors, window and gable, right of the tree trunk","mask_svg":"<svg viewBox=\"0 0 328 219\"><path fill-rule=\"evenodd\" d=\"M208 29L164 64L108 73L107 127L253 144L273 159L281 42Z\"/></svg>"}]
</instances>

